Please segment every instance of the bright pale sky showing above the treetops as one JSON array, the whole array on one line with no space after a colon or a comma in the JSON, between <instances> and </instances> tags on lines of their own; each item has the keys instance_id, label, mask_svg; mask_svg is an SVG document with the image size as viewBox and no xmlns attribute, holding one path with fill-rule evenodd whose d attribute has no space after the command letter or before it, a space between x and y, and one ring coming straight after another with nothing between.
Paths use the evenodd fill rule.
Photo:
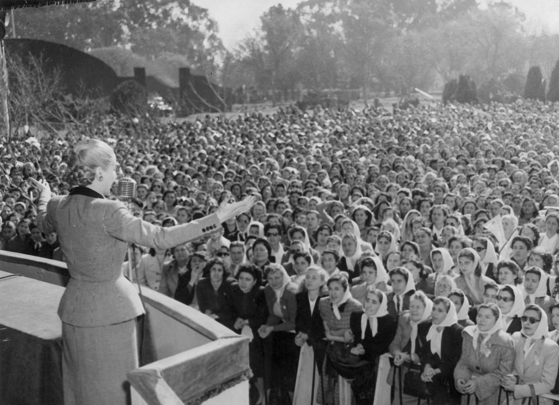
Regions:
<instances>
[{"instance_id":1,"label":"bright pale sky showing above the treetops","mask_svg":"<svg viewBox=\"0 0 559 405\"><path fill-rule=\"evenodd\" d=\"M374 1L374 0L373 0ZM484 3L486 0L477 0ZM228 49L243 40L258 27L260 16L270 7L281 3L285 8L295 8L301 0L192 0L197 6L207 8L210 17L217 21L219 36ZM508 0L527 17L530 28L546 27L547 32L559 33L559 0Z\"/></svg>"}]
</instances>

